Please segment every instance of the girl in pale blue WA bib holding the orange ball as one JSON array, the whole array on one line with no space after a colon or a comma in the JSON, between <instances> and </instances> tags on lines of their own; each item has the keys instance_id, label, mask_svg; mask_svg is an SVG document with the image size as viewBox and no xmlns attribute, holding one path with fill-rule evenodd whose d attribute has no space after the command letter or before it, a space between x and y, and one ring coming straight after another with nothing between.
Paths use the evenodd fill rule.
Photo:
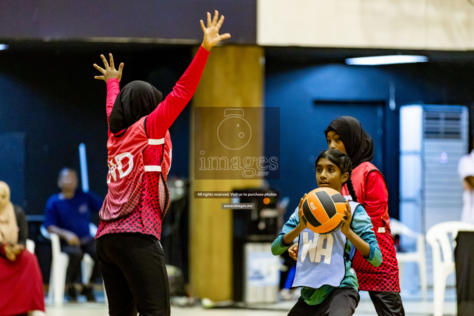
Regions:
<instances>
[{"instance_id":1,"label":"girl in pale blue WA bib holding the orange ball","mask_svg":"<svg viewBox=\"0 0 474 316\"><path fill-rule=\"evenodd\" d=\"M341 192L345 183L352 187L352 163L345 153L325 150L316 159L315 168L319 188ZM303 199L305 197L306 194ZM279 255L300 236L293 287L302 287L301 297L288 315L353 315L359 294L356 273L351 269L351 254L357 249L368 263L374 266L382 263L370 218L362 205L349 199L346 201L347 218L342 220L340 230L319 235L306 226L302 217L303 199L272 244L272 253Z\"/></svg>"}]
</instances>

